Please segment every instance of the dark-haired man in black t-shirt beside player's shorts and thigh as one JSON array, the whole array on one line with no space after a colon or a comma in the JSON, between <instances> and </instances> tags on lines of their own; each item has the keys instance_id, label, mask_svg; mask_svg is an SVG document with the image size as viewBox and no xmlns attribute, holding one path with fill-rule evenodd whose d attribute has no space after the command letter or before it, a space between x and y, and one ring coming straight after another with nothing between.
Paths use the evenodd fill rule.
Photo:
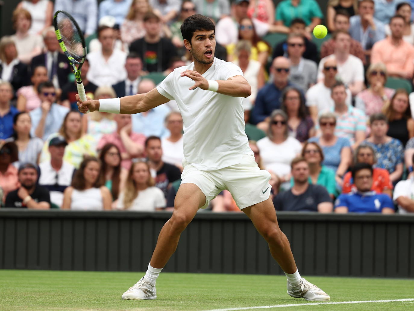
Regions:
<instances>
[{"instance_id":1,"label":"dark-haired man in black t-shirt beside player's shorts and thigh","mask_svg":"<svg viewBox=\"0 0 414 311\"><path fill-rule=\"evenodd\" d=\"M161 160L162 148L161 139L156 136L149 136L145 140L145 152L148 157L148 164L151 168L151 175L155 179L155 186L160 188L165 197L167 197L168 189L171 183L181 177L180 169Z\"/></svg>"}]
</instances>

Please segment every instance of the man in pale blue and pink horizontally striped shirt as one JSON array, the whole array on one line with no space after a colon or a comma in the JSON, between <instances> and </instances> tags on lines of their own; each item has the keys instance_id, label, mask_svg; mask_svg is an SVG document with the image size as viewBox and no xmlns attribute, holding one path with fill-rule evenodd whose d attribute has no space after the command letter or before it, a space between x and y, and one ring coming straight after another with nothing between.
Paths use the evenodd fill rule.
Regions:
<instances>
[{"instance_id":1,"label":"man in pale blue and pink horizontally striped shirt","mask_svg":"<svg viewBox=\"0 0 414 311\"><path fill-rule=\"evenodd\" d=\"M335 106L328 111L335 113L337 117L335 135L348 138L352 149L355 149L366 137L366 115L362 110L347 105L346 91L347 88L342 82L336 82L332 86L331 96ZM321 114L324 112L327 111L322 111Z\"/></svg>"}]
</instances>

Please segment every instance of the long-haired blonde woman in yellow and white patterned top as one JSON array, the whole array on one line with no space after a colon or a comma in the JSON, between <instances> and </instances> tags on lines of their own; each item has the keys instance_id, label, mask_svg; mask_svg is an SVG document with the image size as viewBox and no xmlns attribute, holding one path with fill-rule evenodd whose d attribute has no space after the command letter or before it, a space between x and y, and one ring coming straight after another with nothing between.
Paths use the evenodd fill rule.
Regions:
<instances>
[{"instance_id":1,"label":"long-haired blonde woman in yellow and white patterned top","mask_svg":"<svg viewBox=\"0 0 414 311\"><path fill-rule=\"evenodd\" d=\"M82 162L85 155L96 155L95 137L85 134L82 126L82 115L77 111L69 111L63 119L62 126L58 133L51 134L43 145L41 162L50 161L49 142L53 137L63 136L67 142L63 160L76 168Z\"/></svg>"}]
</instances>

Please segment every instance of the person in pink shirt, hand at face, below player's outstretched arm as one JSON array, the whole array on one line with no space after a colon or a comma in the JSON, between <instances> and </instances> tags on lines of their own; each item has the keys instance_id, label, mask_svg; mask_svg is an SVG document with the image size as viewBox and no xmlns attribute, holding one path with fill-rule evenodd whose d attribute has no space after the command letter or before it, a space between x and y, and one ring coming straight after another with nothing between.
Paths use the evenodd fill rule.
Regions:
<instances>
[{"instance_id":1,"label":"person in pink shirt, hand at face, below player's outstretched arm","mask_svg":"<svg viewBox=\"0 0 414 311\"><path fill-rule=\"evenodd\" d=\"M131 115L116 114L114 120L117 125L116 132L103 135L97 149L101 150L108 143L116 145L121 152L122 167L129 169L131 159L142 158L144 155L145 136L132 132Z\"/></svg>"}]
</instances>

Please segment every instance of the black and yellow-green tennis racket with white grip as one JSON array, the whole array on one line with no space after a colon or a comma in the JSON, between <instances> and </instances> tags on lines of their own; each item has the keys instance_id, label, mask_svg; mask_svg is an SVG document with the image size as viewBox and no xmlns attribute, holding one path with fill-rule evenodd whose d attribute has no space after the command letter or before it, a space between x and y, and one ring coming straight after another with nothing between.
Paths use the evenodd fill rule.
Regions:
<instances>
[{"instance_id":1,"label":"black and yellow-green tennis racket with white grip","mask_svg":"<svg viewBox=\"0 0 414 311\"><path fill-rule=\"evenodd\" d=\"M82 31L80 31L75 19L64 10L55 12L53 25L55 26L56 38L58 38L60 48L67 56L75 74L79 97L82 101L86 101L85 88L80 75L86 56L85 39L83 38Z\"/></svg>"}]
</instances>

